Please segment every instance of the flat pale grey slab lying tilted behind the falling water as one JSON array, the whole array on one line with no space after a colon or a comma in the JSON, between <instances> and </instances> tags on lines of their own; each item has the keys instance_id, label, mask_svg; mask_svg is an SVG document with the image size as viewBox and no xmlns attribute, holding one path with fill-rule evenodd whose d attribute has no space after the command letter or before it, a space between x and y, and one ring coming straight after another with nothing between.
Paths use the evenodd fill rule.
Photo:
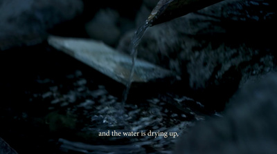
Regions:
<instances>
[{"instance_id":1,"label":"flat pale grey slab lying tilted behind the falling water","mask_svg":"<svg viewBox=\"0 0 277 154\"><path fill-rule=\"evenodd\" d=\"M100 41L52 36L49 37L48 43L58 50L62 50L75 59L98 70L100 73L111 77L111 79L125 85L129 81L129 73L132 68L132 57L120 53ZM145 83L172 75L173 74L169 70L136 59L133 82Z\"/></svg>"}]
</instances>

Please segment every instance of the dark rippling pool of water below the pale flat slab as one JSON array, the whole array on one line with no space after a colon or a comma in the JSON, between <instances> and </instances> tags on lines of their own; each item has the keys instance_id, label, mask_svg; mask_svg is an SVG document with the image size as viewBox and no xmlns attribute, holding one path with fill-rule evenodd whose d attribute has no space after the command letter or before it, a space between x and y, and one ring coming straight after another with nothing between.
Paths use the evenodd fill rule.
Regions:
<instances>
[{"instance_id":1,"label":"dark rippling pool of water below the pale flat slab","mask_svg":"<svg viewBox=\"0 0 277 154\"><path fill-rule=\"evenodd\" d=\"M0 137L18 153L171 153L176 137L98 133L181 134L198 116L186 113L196 102L170 93L122 104L125 86L47 44L1 52L1 64Z\"/></svg>"}]
</instances>

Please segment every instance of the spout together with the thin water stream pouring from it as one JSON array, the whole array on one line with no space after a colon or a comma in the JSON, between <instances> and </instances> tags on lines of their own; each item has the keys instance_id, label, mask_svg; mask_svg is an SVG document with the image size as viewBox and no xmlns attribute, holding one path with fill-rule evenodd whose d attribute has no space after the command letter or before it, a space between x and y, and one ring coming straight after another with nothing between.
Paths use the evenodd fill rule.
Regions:
<instances>
[{"instance_id":1,"label":"spout together with the thin water stream pouring from it","mask_svg":"<svg viewBox=\"0 0 277 154\"><path fill-rule=\"evenodd\" d=\"M134 68L136 64L136 56L138 52L137 50L145 31L150 26L170 21L177 17L184 16L190 12L194 12L207 6L211 6L214 3L220 1L223 0L160 0L157 3L157 6L152 10L148 19L145 21L145 23L143 23L141 27L139 27L138 30L136 30L134 36L132 37L132 41L130 44L132 70L130 71L129 81L127 82L125 92L123 93L123 104L126 102L129 89L131 88L132 78L135 70Z\"/></svg>"}]
</instances>

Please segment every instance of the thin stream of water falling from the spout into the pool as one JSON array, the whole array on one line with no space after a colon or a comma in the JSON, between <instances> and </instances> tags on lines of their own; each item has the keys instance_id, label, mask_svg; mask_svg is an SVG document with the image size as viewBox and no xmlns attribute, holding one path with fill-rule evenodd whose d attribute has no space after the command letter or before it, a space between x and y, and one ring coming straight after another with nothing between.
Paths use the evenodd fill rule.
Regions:
<instances>
[{"instance_id":1,"label":"thin stream of water falling from the spout into the pool","mask_svg":"<svg viewBox=\"0 0 277 154\"><path fill-rule=\"evenodd\" d=\"M138 46L139 43L141 42L141 38L143 37L145 31L149 28L150 23L148 21L145 21L145 23L136 30L134 33L134 36L132 37L131 44L129 46L129 50L131 51L131 56L132 56L132 69L129 75L129 81L127 82L126 89L123 93L123 104L127 100L127 95L129 93L129 88L131 88L131 84L133 81L133 75L134 75L134 68L136 64L136 56L138 54Z\"/></svg>"}]
</instances>

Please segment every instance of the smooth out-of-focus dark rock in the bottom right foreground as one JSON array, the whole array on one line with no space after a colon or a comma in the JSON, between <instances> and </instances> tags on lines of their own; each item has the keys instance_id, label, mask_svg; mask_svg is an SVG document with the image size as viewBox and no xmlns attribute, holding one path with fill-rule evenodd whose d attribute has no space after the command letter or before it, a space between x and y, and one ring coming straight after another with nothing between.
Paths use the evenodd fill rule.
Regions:
<instances>
[{"instance_id":1,"label":"smooth out-of-focus dark rock in the bottom right foreground","mask_svg":"<svg viewBox=\"0 0 277 154\"><path fill-rule=\"evenodd\" d=\"M193 126L175 153L275 153L277 74L253 79L235 94L223 117Z\"/></svg>"}]
</instances>

